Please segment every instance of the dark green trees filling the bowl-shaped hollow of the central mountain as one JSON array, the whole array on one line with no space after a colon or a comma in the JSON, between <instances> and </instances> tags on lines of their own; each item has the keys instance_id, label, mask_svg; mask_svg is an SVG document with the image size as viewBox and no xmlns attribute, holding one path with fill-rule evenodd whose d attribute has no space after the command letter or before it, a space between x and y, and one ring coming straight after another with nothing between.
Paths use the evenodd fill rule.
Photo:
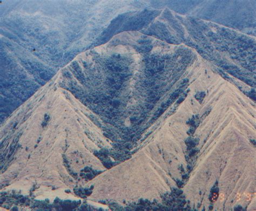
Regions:
<instances>
[{"instance_id":1,"label":"dark green trees filling the bowl-shaped hollow of the central mountain","mask_svg":"<svg viewBox=\"0 0 256 211\"><path fill-rule=\"evenodd\" d=\"M91 51L96 65L86 63L84 69L78 62L72 62L74 77L62 84L103 120L99 123L90 117L103 129L105 137L113 141L113 148L95 152L106 168L131 158L130 150L147 128L170 105L181 103L187 96L189 81L180 77L194 60L192 51L181 46L170 55L158 55L150 52L151 42L142 36L134 46L143 53L144 61L141 74L134 83L134 92L129 93L132 59L129 55L117 53L99 55ZM132 98L138 103L127 110ZM129 126L125 125L125 119L130 119Z\"/></svg>"}]
</instances>

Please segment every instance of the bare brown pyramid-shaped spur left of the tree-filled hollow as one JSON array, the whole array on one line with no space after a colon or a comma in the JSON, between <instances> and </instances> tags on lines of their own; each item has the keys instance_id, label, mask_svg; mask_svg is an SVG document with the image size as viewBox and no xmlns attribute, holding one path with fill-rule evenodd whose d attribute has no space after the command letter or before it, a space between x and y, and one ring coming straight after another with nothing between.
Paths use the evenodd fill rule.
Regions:
<instances>
[{"instance_id":1,"label":"bare brown pyramid-shaped spur left of the tree-filled hollow","mask_svg":"<svg viewBox=\"0 0 256 211\"><path fill-rule=\"evenodd\" d=\"M36 184L34 194L50 199L68 197L64 190L74 185L75 172L83 167L104 171L93 151L110 146L90 120L95 114L57 87L58 78L19 107L0 130L1 184L24 194Z\"/></svg>"}]
</instances>

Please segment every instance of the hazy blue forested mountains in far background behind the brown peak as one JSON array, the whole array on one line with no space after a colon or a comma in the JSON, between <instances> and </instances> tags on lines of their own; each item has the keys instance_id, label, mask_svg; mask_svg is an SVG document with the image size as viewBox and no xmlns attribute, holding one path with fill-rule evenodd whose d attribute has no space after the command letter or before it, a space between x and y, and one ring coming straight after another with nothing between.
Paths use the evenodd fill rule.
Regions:
<instances>
[{"instance_id":1,"label":"hazy blue forested mountains in far background behind the brown peak","mask_svg":"<svg viewBox=\"0 0 256 211\"><path fill-rule=\"evenodd\" d=\"M77 53L89 49L114 17L166 6L255 35L253 0L2 1L0 122Z\"/></svg>"}]
</instances>

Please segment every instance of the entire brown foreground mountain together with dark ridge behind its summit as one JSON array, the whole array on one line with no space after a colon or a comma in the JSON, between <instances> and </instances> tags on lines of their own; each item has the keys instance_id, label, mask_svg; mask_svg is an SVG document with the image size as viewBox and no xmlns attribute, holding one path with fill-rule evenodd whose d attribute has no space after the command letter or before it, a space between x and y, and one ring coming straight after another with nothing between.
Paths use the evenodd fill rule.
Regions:
<instances>
[{"instance_id":1,"label":"entire brown foreground mountain together with dark ridge behind its summit","mask_svg":"<svg viewBox=\"0 0 256 211\"><path fill-rule=\"evenodd\" d=\"M171 188L188 210L254 210L254 52L169 9L118 16L1 126L2 190L171 206Z\"/></svg>"}]
</instances>

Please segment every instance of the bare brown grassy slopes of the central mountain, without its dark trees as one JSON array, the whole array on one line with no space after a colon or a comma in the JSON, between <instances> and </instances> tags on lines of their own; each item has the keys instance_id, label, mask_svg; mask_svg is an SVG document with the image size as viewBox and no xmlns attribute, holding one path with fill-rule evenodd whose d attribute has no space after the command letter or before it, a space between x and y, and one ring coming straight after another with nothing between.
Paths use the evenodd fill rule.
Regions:
<instances>
[{"instance_id":1,"label":"bare brown grassy slopes of the central mountain, without its dark trees","mask_svg":"<svg viewBox=\"0 0 256 211\"><path fill-rule=\"evenodd\" d=\"M230 210L237 203L237 193L255 193L256 148L250 144L250 139L255 139L256 135L253 101L231 82L220 77L215 66L204 60L196 50L185 44L167 44L156 38L143 36L140 32L119 33L108 43L81 53L5 121L0 128L0 139L4 146L0 148L0 153L5 156L0 183L10 183L5 189L21 189L24 194L28 194L33 183L37 183L39 188L34 192L37 199L53 199L55 196L75 199L75 195L64 192L67 188L72 189L76 183L76 176L72 176L72 172L79 174L81 168L90 165L95 169L105 170L93 151L104 146L111 147L112 141L103 135L106 122L99 117L104 115L97 109L95 111L102 116L89 109L95 108L94 105L98 108L100 103L93 99L95 101L92 100L92 103L83 102L87 103L85 106L79 100L83 100L84 93L88 96L93 94L91 91L102 93L102 90L96 88L107 78L106 73L97 68L90 69L97 67L100 61L97 58L111 54L120 55L121 58L129 55L131 76L125 81L125 86L118 90L120 96L127 97L125 104L120 105L125 110L118 110L117 121L130 127L130 115L136 114L136 109L143 110L139 106L146 101L148 94L144 92L143 86L140 89L137 86L142 79L140 77L144 76L145 61L142 59L143 53L137 48L138 40L142 37L150 40L150 53L172 56L182 51L184 57L191 59L186 66L182 66L179 72L182 74L177 80L173 80L176 75L172 73L180 66L166 70L166 74L170 75L166 77L166 84L162 88L167 87L167 91L161 94L155 107L138 126L145 126L142 129L146 129L140 139L141 144L133 145L137 151L131 159L106 170L88 184L83 180L77 182L95 185L91 200L111 199L122 203L124 199L159 199L161 193L176 186L175 180L181 179L179 166L187 166L184 140L188 137L189 126L186 121L193 114L199 114L200 124L193 136L200 138L200 151L198 158L193 160L193 171L183 187L192 206L208 208L208 194L216 180L225 200L220 202L219 199L214 203L214 209ZM178 56L176 62L182 65L182 59ZM83 62L90 64L90 68L84 66ZM74 64L79 65L77 69ZM95 87L90 84L92 76L89 73L92 70L98 78ZM173 101L156 121L151 121L157 106L165 102L170 90L185 78L189 79L187 88L190 89L188 91L186 88L185 100L180 104L177 100ZM150 76L147 79L150 80ZM169 84L170 81L173 83ZM77 94L74 90L83 90L84 93ZM206 93L201 103L194 97L198 91ZM50 114L51 118L42 127L45 113ZM42 138L37 143L40 136ZM35 144L38 145L36 148ZM12 148L15 151L11 152ZM70 168L65 167L63 154L66 155ZM55 189L53 186L57 189L52 190ZM239 203L248 206L248 210L256 208L255 196L250 201L242 198Z\"/></svg>"}]
</instances>

